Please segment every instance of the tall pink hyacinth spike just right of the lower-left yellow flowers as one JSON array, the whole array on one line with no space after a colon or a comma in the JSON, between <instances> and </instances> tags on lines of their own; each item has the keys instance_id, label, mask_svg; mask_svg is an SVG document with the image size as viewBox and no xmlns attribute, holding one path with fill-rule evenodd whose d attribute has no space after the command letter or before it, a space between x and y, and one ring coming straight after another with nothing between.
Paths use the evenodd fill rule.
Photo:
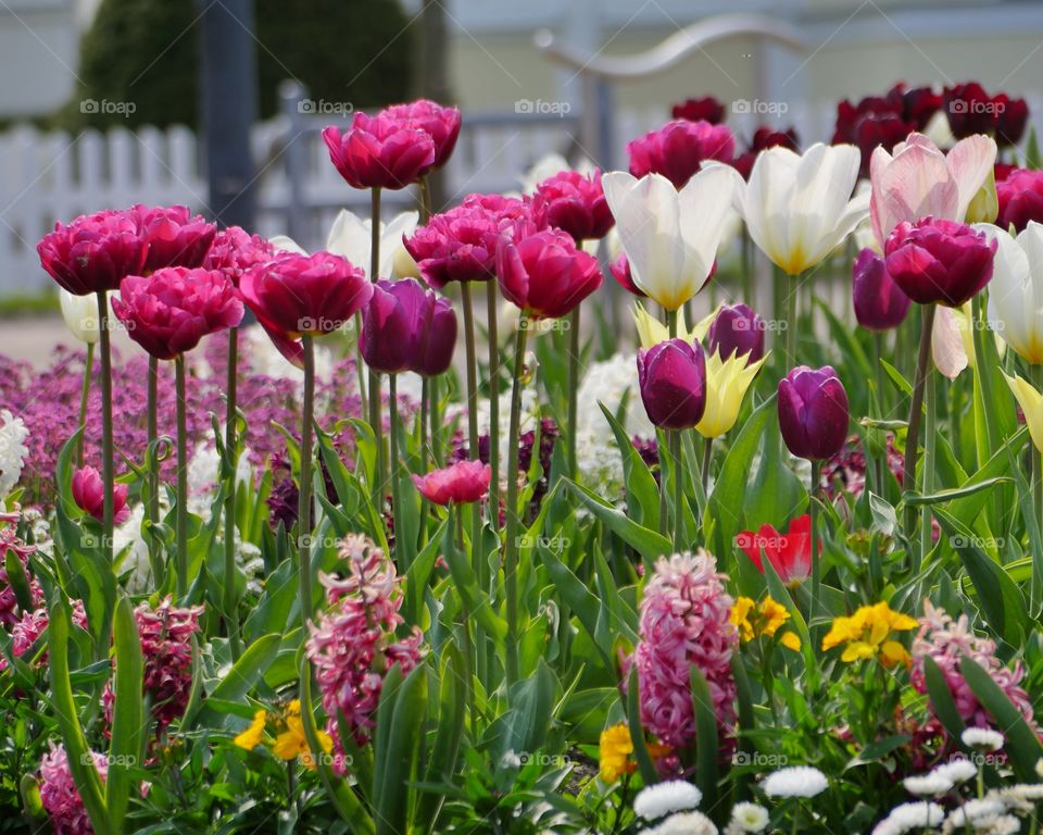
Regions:
<instances>
[{"instance_id":1,"label":"tall pink hyacinth spike just right of the lower-left yellow flowers","mask_svg":"<svg viewBox=\"0 0 1043 835\"><path fill-rule=\"evenodd\" d=\"M385 674L394 664L404 674L417 665L423 635L414 627L409 637L395 637L403 623L399 614L403 581L384 551L362 534L351 534L341 544L340 557L348 563L343 579L319 572L328 609L317 623L309 624L306 647L329 716L326 731L334 738L334 767L344 773L340 731L353 734L359 745L368 741ZM340 730L338 715L345 723Z\"/></svg>"}]
</instances>

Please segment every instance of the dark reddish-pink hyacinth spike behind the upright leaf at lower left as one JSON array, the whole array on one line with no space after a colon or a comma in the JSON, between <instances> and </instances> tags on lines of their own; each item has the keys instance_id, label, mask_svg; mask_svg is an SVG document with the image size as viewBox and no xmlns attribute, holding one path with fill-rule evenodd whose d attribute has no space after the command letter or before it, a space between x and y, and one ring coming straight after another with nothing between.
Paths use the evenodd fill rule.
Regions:
<instances>
[{"instance_id":1,"label":"dark reddish-pink hyacinth spike behind the upright leaf at lower left","mask_svg":"<svg viewBox=\"0 0 1043 835\"><path fill-rule=\"evenodd\" d=\"M192 636L199 632L202 613L201 606L175 607L169 596L155 609L141 603L134 610L144 658L144 693L152 705L156 735L175 719L180 719L188 706L192 685ZM115 703L111 680L105 685L102 702L105 721L111 725Z\"/></svg>"}]
</instances>

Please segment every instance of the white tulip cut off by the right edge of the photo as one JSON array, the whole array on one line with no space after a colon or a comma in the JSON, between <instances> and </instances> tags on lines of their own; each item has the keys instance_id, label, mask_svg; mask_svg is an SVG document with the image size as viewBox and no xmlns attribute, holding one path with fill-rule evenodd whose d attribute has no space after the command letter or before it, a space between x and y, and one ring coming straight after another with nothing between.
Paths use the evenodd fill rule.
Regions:
<instances>
[{"instance_id":1,"label":"white tulip cut off by the right edge of the photo","mask_svg":"<svg viewBox=\"0 0 1043 835\"><path fill-rule=\"evenodd\" d=\"M975 224L1000 245L989 283L989 327L1026 360L1043 362L1043 225L1029 221L1017 238Z\"/></svg>"}]
</instances>

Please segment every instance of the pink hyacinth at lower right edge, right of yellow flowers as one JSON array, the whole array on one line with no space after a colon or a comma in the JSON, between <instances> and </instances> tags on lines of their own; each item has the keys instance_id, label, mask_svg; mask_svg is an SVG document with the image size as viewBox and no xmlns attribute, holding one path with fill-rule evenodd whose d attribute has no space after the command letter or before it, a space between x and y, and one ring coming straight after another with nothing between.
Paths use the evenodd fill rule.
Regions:
<instances>
[{"instance_id":1,"label":"pink hyacinth at lower right edge, right of yellow flowers","mask_svg":"<svg viewBox=\"0 0 1043 835\"><path fill-rule=\"evenodd\" d=\"M1032 702L1021 687L1021 680L1025 677L1025 668L1021 666L1021 662L1016 662L1013 669L1004 666L996 658L995 641L976 635L970 628L970 621L966 614L953 619L945 610L935 609L930 601L923 601L920 631L913 640L910 676L913 686L917 693L921 694L927 694L925 658L932 659L942 671L953 700L956 702L956 710L967 724L991 727L993 718L975 697L970 685L959 671L959 663L965 658L977 661L989 673L996 686L1007 695L1010 703L1025 716L1029 726L1035 728Z\"/></svg>"}]
</instances>

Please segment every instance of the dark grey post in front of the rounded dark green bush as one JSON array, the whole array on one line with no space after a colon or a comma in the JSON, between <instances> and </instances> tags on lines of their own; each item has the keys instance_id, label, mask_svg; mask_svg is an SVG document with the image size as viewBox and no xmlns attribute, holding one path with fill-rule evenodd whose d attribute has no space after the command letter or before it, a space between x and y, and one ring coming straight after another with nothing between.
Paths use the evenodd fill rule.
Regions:
<instances>
[{"instance_id":1,"label":"dark grey post in front of the rounded dark green bush","mask_svg":"<svg viewBox=\"0 0 1043 835\"><path fill-rule=\"evenodd\" d=\"M197 0L208 207L222 226L254 227L250 130L257 115L253 0Z\"/></svg>"}]
</instances>

